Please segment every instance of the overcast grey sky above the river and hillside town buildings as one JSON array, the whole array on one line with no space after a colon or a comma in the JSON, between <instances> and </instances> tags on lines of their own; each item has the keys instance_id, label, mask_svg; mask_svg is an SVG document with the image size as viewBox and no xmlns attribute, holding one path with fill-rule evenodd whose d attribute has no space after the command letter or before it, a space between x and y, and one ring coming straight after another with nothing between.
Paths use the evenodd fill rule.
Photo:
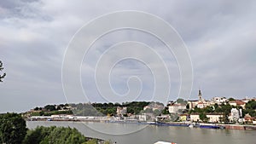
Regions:
<instances>
[{"instance_id":1,"label":"overcast grey sky above the river and hillside town buildings","mask_svg":"<svg viewBox=\"0 0 256 144\"><path fill-rule=\"evenodd\" d=\"M76 82L63 81L63 63L70 54L68 49L75 47L73 42L84 42L101 27L117 25L121 18L100 23L98 29L90 29L85 35L79 32L83 33L96 18L121 11L155 15L182 38L189 57L179 56L187 56L193 68L189 95L180 92L184 77L178 55L154 35L135 29L108 32L98 37L86 54L76 51L68 60L67 74L75 74L69 73L67 78L79 78L84 95L78 92ZM33 107L70 102L152 101L155 91L164 96L160 97L163 102L178 97L196 100L198 89L207 100L213 96L255 97L255 14L253 0L1 1L0 60L7 76L0 84L0 112L25 112ZM138 22L145 28L154 26L168 32L146 20L121 22ZM86 49L81 44L79 48ZM83 59L77 60L77 55ZM122 60L125 55L132 56ZM116 58L119 61L114 63Z\"/></svg>"}]
</instances>

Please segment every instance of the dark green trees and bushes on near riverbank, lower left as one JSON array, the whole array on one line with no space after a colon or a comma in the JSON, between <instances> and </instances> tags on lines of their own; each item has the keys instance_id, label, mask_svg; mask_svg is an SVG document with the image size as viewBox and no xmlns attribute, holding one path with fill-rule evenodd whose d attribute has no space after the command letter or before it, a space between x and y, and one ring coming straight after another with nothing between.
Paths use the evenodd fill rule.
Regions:
<instances>
[{"instance_id":1,"label":"dark green trees and bushes on near riverbank, lower left","mask_svg":"<svg viewBox=\"0 0 256 144\"><path fill-rule=\"evenodd\" d=\"M0 115L0 143L6 144L98 144L97 139L89 139L75 128L37 127L26 129L26 121L17 113ZM105 141L104 144L110 144Z\"/></svg>"}]
</instances>

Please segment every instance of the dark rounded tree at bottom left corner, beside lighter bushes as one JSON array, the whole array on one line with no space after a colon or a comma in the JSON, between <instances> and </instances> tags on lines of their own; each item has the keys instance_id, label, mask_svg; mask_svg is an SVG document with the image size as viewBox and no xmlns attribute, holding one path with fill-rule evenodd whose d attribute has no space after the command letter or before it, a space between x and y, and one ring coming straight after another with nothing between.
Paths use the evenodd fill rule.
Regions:
<instances>
[{"instance_id":1,"label":"dark rounded tree at bottom left corner, beside lighter bushes","mask_svg":"<svg viewBox=\"0 0 256 144\"><path fill-rule=\"evenodd\" d=\"M0 115L0 143L20 144L26 135L26 121L18 113Z\"/></svg>"}]
</instances>

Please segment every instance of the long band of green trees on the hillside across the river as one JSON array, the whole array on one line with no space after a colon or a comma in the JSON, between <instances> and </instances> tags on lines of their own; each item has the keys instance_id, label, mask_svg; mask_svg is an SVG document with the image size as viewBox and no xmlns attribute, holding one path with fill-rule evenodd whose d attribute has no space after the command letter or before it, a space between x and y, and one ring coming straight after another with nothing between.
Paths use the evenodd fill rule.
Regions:
<instances>
[{"instance_id":1,"label":"long band of green trees on the hillside across the river","mask_svg":"<svg viewBox=\"0 0 256 144\"><path fill-rule=\"evenodd\" d=\"M117 113L117 107L127 107L127 113L139 114L142 112L151 112L152 109L143 111L143 108L149 105L159 105L164 107L164 104L160 102L148 102L148 101L132 101L119 103L79 103L79 104L61 104L61 105L47 105L45 107L35 107L30 116L50 116L54 114L73 114L79 116L115 116ZM152 111L153 112L153 111ZM160 114L158 111L154 111L155 114ZM167 109L163 110L163 113L167 114Z\"/></svg>"}]
</instances>

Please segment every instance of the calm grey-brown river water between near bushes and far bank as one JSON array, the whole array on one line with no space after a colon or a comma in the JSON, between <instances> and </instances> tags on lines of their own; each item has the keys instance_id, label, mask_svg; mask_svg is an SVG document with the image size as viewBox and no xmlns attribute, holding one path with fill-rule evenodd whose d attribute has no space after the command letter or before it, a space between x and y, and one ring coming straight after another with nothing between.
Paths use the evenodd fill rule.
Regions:
<instances>
[{"instance_id":1,"label":"calm grey-brown river water between near bushes and far bank","mask_svg":"<svg viewBox=\"0 0 256 144\"><path fill-rule=\"evenodd\" d=\"M154 144L170 141L177 144L256 144L256 130L212 130L144 124L82 123L27 121L27 128L69 126L85 136L116 141L117 144Z\"/></svg>"}]
</instances>

